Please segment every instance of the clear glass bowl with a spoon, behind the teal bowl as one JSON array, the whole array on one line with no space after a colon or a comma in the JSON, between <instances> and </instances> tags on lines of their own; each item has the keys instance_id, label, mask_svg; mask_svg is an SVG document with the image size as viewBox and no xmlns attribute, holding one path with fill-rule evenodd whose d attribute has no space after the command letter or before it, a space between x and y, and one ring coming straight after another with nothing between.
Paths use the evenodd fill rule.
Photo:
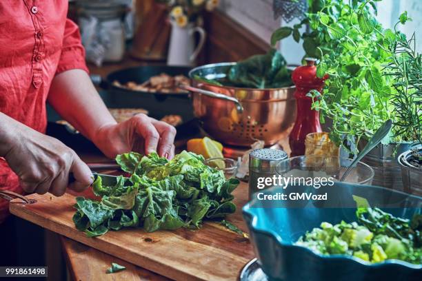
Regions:
<instances>
[{"instance_id":1,"label":"clear glass bowl with a spoon, behind the teal bowl","mask_svg":"<svg viewBox=\"0 0 422 281\"><path fill-rule=\"evenodd\" d=\"M277 173L284 177L296 178L334 178L339 181L345 170L352 163L352 159L339 158L336 156L307 155L296 156L281 160L277 165ZM357 183L359 185L371 185L374 178L374 170L365 163L358 162L345 178L345 183Z\"/></svg>"}]
</instances>

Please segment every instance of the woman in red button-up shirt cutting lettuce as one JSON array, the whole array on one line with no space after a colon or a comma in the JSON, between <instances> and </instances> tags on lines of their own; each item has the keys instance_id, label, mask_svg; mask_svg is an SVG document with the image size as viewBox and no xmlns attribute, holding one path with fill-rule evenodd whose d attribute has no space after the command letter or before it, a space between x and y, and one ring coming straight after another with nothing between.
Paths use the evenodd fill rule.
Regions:
<instances>
[{"instance_id":1,"label":"woman in red button-up shirt cutting lettuce","mask_svg":"<svg viewBox=\"0 0 422 281\"><path fill-rule=\"evenodd\" d=\"M174 154L174 127L139 114L117 124L88 76L68 1L0 1L0 189L61 196L86 189L90 169L46 136L46 101L113 158L131 150ZM8 203L0 198L0 222ZM1 265L1 264L0 264Z\"/></svg>"}]
</instances>

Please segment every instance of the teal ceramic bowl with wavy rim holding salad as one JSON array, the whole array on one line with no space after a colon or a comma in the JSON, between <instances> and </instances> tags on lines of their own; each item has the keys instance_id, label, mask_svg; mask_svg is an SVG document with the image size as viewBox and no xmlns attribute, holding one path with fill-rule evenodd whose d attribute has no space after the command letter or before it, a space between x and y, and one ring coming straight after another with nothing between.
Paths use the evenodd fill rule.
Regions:
<instances>
[{"instance_id":1,"label":"teal ceramic bowl with wavy rim holding salad","mask_svg":"<svg viewBox=\"0 0 422 281\"><path fill-rule=\"evenodd\" d=\"M370 205L378 204L383 211L394 216L412 218L422 214L422 198L399 191L335 183L337 204L345 207L286 207L279 202L265 203L254 198L243 207L243 217L250 230L250 239L259 263L270 280L277 281L331 281L331 280L422 280L422 264L400 260L387 260L371 264L345 255L323 256L309 249L294 245L306 231L319 227L321 222L332 224L345 220L356 221L356 207L350 207L352 194L364 197ZM303 189L305 190L305 189ZM265 189L263 194L283 192L281 187ZM343 202L343 203L342 203ZM392 205L389 205L389 203ZM396 207L399 205L399 207Z\"/></svg>"}]
</instances>

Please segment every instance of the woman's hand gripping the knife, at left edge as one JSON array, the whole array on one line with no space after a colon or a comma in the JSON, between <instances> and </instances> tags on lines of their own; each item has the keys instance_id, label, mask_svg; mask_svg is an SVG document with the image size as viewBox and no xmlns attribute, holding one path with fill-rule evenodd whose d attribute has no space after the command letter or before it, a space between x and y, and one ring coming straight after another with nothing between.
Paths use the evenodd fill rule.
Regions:
<instances>
[{"instance_id":1,"label":"woman's hand gripping the knife, at left edge","mask_svg":"<svg viewBox=\"0 0 422 281\"><path fill-rule=\"evenodd\" d=\"M92 184L90 168L56 138L41 134L0 113L0 156L19 176L28 193L61 196L69 187L83 191ZM69 173L75 178L69 185Z\"/></svg>"}]
</instances>

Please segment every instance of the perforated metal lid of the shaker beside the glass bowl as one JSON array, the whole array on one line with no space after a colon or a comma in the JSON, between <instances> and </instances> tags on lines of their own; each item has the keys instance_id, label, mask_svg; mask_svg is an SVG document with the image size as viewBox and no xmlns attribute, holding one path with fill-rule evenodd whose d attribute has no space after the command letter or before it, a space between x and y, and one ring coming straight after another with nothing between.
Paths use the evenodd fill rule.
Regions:
<instances>
[{"instance_id":1,"label":"perforated metal lid of the shaker beside the glass bowl","mask_svg":"<svg viewBox=\"0 0 422 281\"><path fill-rule=\"evenodd\" d=\"M279 161L288 158L281 149L260 148L249 154L249 167L254 171L275 171Z\"/></svg>"}]
</instances>

